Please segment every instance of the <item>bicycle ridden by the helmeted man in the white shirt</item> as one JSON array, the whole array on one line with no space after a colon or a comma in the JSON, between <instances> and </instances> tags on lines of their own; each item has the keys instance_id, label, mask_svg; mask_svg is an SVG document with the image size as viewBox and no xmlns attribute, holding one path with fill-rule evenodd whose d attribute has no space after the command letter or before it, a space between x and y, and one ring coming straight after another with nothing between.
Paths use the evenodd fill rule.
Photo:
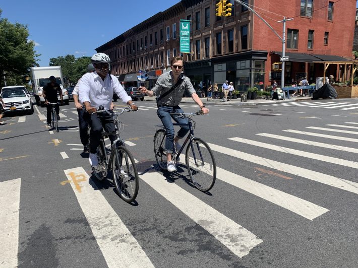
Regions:
<instances>
[{"instance_id":1,"label":"bicycle ridden by the helmeted man in the white shirt","mask_svg":"<svg viewBox=\"0 0 358 268\"><path fill-rule=\"evenodd\" d=\"M102 108L102 107L100 107ZM107 110L99 109L93 113L107 113L112 116L114 122L113 132L102 132L101 140L96 150L98 157L98 165L92 167L95 177L102 181L108 173L112 170L112 177L115 188L120 194L121 198L127 203L133 202L136 199L139 189L139 178L137 166L131 152L125 147L125 142L120 137L120 132L124 130L124 124L118 120L118 116L124 111L132 111L131 108L125 107L122 112L111 113ZM119 124L119 126L118 126ZM108 158L104 137L115 133L115 140L111 144L111 152Z\"/></svg>"}]
</instances>

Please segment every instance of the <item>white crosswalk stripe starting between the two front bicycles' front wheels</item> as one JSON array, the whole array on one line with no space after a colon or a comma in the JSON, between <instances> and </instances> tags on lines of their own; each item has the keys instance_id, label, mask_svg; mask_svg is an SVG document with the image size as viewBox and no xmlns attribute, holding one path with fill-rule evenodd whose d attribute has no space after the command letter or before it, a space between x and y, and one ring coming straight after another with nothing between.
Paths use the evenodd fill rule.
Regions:
<instances>
[{"instance_id":1,"label":"white crosswalk stripe starting between the two front bicycles' front wheels","mask_svg":"<svg viewBox=\"0 0 358 268\"><path fill-rule=\"evenodd\" d=\"M238 257L263 242L255 234L202 202L174 183L167 183L159 173L145 173L140 178L176 208L203 227Z\"/></svg>"}]
</instances>

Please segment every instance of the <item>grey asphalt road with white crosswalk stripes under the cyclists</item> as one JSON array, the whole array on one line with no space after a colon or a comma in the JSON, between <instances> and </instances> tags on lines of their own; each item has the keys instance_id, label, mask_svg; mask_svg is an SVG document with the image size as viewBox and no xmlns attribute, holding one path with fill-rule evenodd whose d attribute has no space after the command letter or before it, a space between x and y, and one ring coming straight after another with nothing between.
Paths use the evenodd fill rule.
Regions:
<instances>
[{"instance_id":1,"label":"grey asphalt road with white crosswalk stripes under the cyclists","mask_svg":"<svg viewBox=\"0 0 358 268\"><path fill-rule=\"evenodd\" d=\"M45 128L45 108L4 118L1 267L356 267L357 100L207 102L209 115L194 120L218 167L209 193L184 165L157 171L155 103L137 104L121 133L139 161L132 205L92 179L73 102L58 133Z\"/></svg>"}]
</instances>

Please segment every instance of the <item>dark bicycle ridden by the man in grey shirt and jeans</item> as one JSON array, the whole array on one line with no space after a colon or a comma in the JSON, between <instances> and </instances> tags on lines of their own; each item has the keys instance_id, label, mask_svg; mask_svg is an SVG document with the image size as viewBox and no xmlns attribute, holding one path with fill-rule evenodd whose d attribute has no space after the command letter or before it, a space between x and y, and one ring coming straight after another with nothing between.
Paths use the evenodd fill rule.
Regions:
<instances>
[{"instance_id":1,"label":"dark bicycle ridden by the man in grey shirt and jeans","mask_svg":"<svg viewBox=\"0 0 358 268\"><path fill-rule=\"evenodd\" d=\"M216 163L214 155L209 145L200 138L194 136L194 128L196 122L192 119L194 115L203 115L203 113L170 113L171 116L180 116L182 118L187 117L188 123L180 124L173 123L178 126L189 126L189 135L187 136L182 148L176 152L175 146L173 146L172 161L176 166L176 162L180 161L180 154L183 152L185 146L189 142L185 152L185 163L189 172L189 176L194 183L194 186L200 191L209 191L216 180ZM166 170L166 153L165 153L165 136L166 130L163 125L156 125L156 132L154 135L154 154L155 159L159 167ZM158 129L159 128L159 129Z\"/></svg>"}]
</instances>

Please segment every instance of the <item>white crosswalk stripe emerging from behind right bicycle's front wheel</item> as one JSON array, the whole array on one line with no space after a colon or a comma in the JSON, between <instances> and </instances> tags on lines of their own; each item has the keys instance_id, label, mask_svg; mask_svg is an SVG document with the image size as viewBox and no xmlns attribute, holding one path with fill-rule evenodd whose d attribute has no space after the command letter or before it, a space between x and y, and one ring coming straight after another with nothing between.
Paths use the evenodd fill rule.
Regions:
<instances>
[{"instance_id":1,"label":"white crosswalk stripe emerging from behind right bicycle's front wheel","mask_svg":"<svg viewBox=\"0 0 358 268\"><path fill-rule=\"evenodd\" d=\"M180 162L185 164L184 159L180 160ZM205 172L206 169L203 169L203 171ZM207 171L207 173L209 174L209 171ZM316 204L308 202L307 200L285 193L219 167L216 167L216 178L237 188L243 189L244 191L250 192L309 220L313 220L329 211Z\"/></svg>"}]
</instances>

